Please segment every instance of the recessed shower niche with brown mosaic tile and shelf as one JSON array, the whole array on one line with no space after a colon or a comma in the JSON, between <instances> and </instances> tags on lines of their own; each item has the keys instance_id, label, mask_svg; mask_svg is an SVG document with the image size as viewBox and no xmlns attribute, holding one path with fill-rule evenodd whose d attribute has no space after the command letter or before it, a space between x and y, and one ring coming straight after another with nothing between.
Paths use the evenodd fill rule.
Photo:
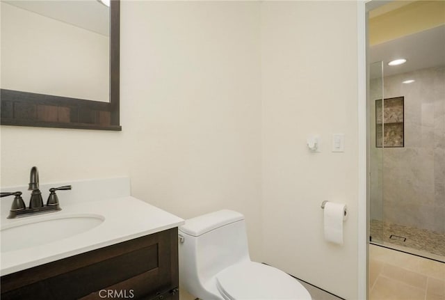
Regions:
<instances>
[{"instance_id":1,"label":"recessed shower niche with brown mosaic tile and shelf","mask_svg":"<svg viewBox=\"0 0 445 300\"><path fill-rule=\"evenodd\" d=\"M375 100L375 147L404 147L404 97Z\"/></svg>"}]
</instances>

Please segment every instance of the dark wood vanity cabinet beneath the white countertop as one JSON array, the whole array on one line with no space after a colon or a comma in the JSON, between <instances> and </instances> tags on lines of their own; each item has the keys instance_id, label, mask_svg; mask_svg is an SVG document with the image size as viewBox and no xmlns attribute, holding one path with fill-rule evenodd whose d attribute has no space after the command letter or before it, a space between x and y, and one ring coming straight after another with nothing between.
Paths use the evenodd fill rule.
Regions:
<instances>
[{"instance_id":1,"label":"dark wood vanity cabinet beneath the white countertop","mask_svg":"<svg viewBox=\"0 0 445 300\"><path fill-rule=\"evenodd\" d=\"M1 276L1 299L179 299L177 228Z\"/></svg>"}]
</instances>

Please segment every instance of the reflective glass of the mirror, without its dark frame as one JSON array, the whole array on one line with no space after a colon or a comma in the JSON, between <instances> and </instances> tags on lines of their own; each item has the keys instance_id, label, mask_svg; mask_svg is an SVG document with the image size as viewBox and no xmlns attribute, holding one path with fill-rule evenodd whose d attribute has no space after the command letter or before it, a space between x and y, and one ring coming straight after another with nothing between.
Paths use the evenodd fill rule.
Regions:
<instances>
[{"instance_id":1,"label":"reflective glass of the mirror, without its dark frame","mask_svg":"<svg viewBox=\"0 0 445 300\"><path fill-rule=\"evenodd\" d=\"M108 6L97 0L1 6L1 88L109 101Z\"/></svg>"}]
</instances>

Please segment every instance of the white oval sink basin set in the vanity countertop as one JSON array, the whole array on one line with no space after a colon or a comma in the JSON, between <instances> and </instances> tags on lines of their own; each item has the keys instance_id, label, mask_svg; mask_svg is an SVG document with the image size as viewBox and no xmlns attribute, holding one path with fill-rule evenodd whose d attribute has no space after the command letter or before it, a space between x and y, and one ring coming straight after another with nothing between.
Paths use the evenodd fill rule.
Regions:
<instances>
[{"instance_id":1,"label":"white oval sink basin set in the vanity countertop","mask_svg":"<svg viewBox=\"0 0 445 300\"><path fill-rule=\"evenodd\" d=\"M99 226L104 216L76 214L20 220L1 228L1 252L56 242Z\"/></svg>"}]
</instances>

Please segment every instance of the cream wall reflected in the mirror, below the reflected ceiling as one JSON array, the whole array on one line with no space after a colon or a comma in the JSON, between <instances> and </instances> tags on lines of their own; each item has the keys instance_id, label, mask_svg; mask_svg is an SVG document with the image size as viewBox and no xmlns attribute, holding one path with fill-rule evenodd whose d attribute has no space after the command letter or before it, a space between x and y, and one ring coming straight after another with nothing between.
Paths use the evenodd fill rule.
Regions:
<instances>
[{"instance_id":1,"label":"cream wall reflected in the mirror, below the reflected ceiling","mask_svg":"<svg viewBox=\"0 0 445 300\"><path fill-rule=\"evenodd\" d=\"M109 38L1 5L1 88L109 101Z\"/></svg>"}]
</instances>

